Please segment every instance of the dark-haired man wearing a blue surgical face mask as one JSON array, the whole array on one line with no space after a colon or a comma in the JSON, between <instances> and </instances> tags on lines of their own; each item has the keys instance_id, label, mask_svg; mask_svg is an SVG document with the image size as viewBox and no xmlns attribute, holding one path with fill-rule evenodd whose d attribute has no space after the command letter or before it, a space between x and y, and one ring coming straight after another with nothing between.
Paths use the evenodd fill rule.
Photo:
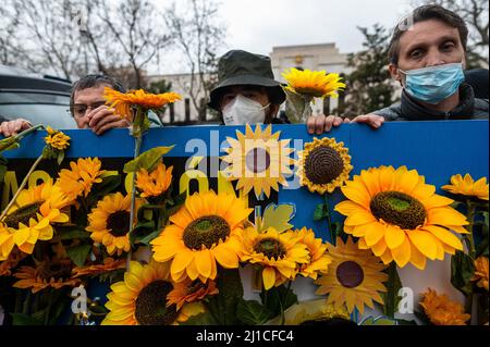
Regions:
<instances>
[{"instance_id":1,"label":"dark-haired man wearing a blue surgical face mask","mask_svg":"<svg viewBox=\"0 0 490 347\"><path fill-rule=\"evenodd\" d=\"M389 48L389 70L402 87L401 102L352 122L379 128L391 121L488 119L488 99L475 98L465 83L468 28L440 5L414 10L397 25ZM408 21L409 22L409 21Z\"/></svg>"}]
</instances>

